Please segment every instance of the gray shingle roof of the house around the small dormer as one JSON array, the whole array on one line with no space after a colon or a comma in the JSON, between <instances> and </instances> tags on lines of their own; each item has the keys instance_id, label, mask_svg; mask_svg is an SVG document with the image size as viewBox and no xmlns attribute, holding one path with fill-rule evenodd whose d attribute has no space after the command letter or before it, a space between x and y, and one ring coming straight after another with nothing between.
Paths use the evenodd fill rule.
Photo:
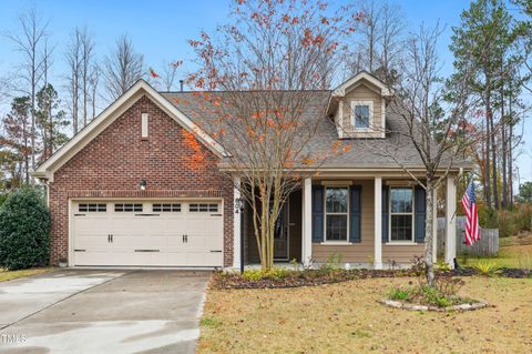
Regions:
<instances>
[{"instance_id":1,"label":"gray shingle roof of the house around the small dormer","mask_svg":"<svg viewBox=\"0 0 532 354\"><path fill-rule=\"evenodd\" d=\"M174 104L180 111L198 124L207 133L213 134L219 124L209 110L198 110L197 107L205 104L205 100L193 92L161 92L161 94ZM223 95L223 92L211 94ZM317 133L310 140L307 149L314 153L328 154L320 165L321 169L382 169L389 166L399 168L399 163L410 168L422 168L421 159L412 142L405 133L408 131L402 118L387 113L386 139L342 139L340 146L349 146L339 154L330 154L331 145L338 141L338 132L331 120L326 115L326 109L331 91L309 92L309 103L305 107L301 118L317 123ZM314 124L313 124L314 127ZM402 133L401 133L402 132ZM223 142L221 142L223 144ZM391 158L391 155L393 158ZM453 166L468 168L470 164L461 159L454 159Z\"/></svg>"}]
</instances>

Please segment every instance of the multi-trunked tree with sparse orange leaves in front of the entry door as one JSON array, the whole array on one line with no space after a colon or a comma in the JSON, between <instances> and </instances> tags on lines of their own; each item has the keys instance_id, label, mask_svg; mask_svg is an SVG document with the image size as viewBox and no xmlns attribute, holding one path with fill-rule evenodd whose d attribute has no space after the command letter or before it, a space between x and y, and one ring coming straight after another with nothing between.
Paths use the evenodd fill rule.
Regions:
<instances>
[{"instance_id":1,"label":"multi-trunked tree with sparse orange leaves in front of the entry door","mask_svg":"<svg viewBox=\"0 0 532 354\"><path fill-rule=\"evenodd\" d=\"M263 269L274 260L274 230L290 192L300 186L300 171L313 173L326 156L308 149L319 120L306 114L313 89L334 77L324 65L354 31L350 7L330 11L319 1L260 0L236 4L234 22L216 37L191 41L200 70L188 82L197 114L216 117L215 136L227 150L228 170L252 205L254 235ZM339 30L344 29L344 30ZM325 71L324 71L325 70ZM328 95L327 95L328 98ZM245 146L245 149L243 149ZM330 146L330 153L341 142ZM201 161L201 159L196 159Z\"/></svg>"}]
</instances>

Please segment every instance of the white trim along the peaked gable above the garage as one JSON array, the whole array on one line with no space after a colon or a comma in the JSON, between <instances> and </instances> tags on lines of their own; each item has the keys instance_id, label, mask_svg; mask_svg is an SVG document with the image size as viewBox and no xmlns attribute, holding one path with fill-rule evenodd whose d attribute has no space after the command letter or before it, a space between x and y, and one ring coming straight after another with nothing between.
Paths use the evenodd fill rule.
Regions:
<instances>
[{"instance_id":1,"label":"white trim along the peaked gable above the garage","mask_svg":"<svg viewBox=\"0 0 532 354\"><path fill-rule=\"evenodd\" d=\"M76 135L61 146L52 156L44 161L33 176L53 181L53 173L74 156L80 150L89 144L94 138L103 132L111 123L121 117L140 98L146 95L168 117L174 119L181 127L193 133L205 146L219 158L227 155L225 149L204 130L196 125L188 117L181 112L174 104L168 102L161 93L153 89L146 81L139 80L116 101L109 105L93 121L83 128Z\"/></svg>"}]
</instances>

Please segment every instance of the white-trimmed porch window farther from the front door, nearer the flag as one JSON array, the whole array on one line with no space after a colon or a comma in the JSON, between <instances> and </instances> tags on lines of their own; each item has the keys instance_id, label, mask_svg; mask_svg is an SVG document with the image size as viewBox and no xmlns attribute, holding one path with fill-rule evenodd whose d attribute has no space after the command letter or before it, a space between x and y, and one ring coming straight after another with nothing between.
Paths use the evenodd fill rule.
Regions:
<instances>
[{"instance_id":1,"label":"white-trimmed porch window farther from the front door, nearer the flag","mask_svg":"<svg viewBox=\"0 0 532 354\"><path fill-rule=\"evenodd\" d=\"M413 241L412 188L390 188L390 241Z\"/></svg>"}]
</instances>

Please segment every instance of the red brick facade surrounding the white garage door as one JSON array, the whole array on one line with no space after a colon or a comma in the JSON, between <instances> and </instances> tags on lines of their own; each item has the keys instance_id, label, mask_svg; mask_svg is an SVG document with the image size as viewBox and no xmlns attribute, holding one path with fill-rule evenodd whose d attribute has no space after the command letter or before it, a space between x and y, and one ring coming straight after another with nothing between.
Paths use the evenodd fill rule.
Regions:
<instances>
[{"instance_id":1,"label":"red brick facade surrounding the white garage door","mask_svg":"<svg viewBox=\"0 0 532 354\"><path fill-rule=\"evenodd\" d=\"M149 113L149 138L141 138L141 113ZM149 98L142 97L54 173L50 183L51 263L68 256L71 198L222 198L224 265L233 264L233 184L217 169L218 158L201 145ZM139 190L142 179L146 191Z\"/></svg>"}]
</instances>

